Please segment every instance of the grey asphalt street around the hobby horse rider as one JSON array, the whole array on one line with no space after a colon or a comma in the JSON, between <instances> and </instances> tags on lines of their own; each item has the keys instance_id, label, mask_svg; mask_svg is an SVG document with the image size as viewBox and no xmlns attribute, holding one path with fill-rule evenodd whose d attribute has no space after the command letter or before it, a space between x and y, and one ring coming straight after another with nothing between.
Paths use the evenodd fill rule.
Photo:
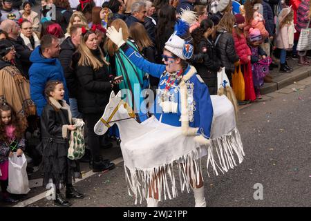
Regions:
<instances>
[{"instance_id":1,"label":"grey asphalt street around the hobby horse rider","mask_svg":"<svg viewBox=\"0 0 311 221\"><path fill-rule=\"evenodd\" d=\"M310 83L311 77L305 81ZM245 159L224 175L203 174L207 206L311 206L311 87L296 88L265 96L263 101L239 111L238 129ZM109 151L120 154L117 147ZM129 196L122 163L113 171L96 173L75 186L86 197L72 200L73 206L147 205L135 205ZM258 186L262 187L262 195L258 194ZM44 198L28 206L54 205ZM159 206L192 207L194 196L179 192L178 198L160 202Z\"/></svg>"}]
</instances>

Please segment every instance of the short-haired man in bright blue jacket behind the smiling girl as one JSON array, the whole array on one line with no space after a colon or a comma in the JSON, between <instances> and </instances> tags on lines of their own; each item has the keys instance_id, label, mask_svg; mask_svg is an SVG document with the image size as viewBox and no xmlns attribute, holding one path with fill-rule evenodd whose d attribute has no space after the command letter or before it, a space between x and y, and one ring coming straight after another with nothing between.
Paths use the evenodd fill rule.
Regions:
<instances>
[{"instance_id":1,"label":"short-haired man in bright blue jacket behind the smiling girl","mask_svg":"<svg viewBox=\"0 0 311 221\"><path fill-rule=\"evenodd\" d=\"M50 80L62 81L65 88L65 97L68 102L68 90L66 86L66 79L64 77L63 68L57 59L60 51L59 40L53 35L44 35L41 38L41 46L37 46L30 55L32 65L29 69L30 79L30 95L32 101L37 106L37 115L46 106L46 97L44 95L44 88L46 82Z\"/></svg>"}]
</instances>

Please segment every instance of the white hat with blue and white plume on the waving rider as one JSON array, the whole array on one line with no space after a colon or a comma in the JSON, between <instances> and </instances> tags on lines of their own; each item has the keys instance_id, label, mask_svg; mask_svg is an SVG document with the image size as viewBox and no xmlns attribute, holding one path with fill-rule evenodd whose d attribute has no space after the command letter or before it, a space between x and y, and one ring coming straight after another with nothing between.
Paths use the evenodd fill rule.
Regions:
<instances>
[{"instance_id":1,"label":"white hat with blue and white plume on the waving rider","mask_svg":"<svg viewBox=\"0 0 311 221\"><path fill-rule=\"evenodd\" d=\"M189 26L196 17L195 12L191 10L182 10L180 19L176 22L174 32L165 43L164 48L183 60L191 58L194 53L194 46L190 43L192 40L189 35Z\"/></svg>"}]
</instances>

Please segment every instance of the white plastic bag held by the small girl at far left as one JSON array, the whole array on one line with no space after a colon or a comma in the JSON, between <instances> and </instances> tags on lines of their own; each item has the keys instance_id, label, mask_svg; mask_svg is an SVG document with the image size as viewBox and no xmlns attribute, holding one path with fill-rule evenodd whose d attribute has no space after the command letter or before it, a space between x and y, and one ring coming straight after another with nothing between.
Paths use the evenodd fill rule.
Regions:
<instances>
[{"instance_id":1,"label":"white plastic bag held by the small girl at far left","mask_svg":"<svg viewBox=\"0 0 311 221\"><path fill-rule=\"evenodd\" d=\"M13 153L9 158L8 173L8 189L9 193L27 194L29 189L28 176L26 172L27 160L24 154L17 157L17 153Z\"/></svg>"}]
</instances>

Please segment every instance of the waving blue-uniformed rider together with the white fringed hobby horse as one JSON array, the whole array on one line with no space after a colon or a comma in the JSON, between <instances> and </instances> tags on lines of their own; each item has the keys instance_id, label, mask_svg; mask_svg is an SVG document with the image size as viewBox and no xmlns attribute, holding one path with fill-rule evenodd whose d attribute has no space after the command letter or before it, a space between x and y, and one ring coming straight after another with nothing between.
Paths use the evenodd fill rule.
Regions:
<instances>
[{"instance_id":1,"label":"waving blue-uniformed rider together with the white fringed hobby horse","mask_svg":"<svg viewBox=\"0 0 311 221\"><path fill-rule=\"evenodd\" d=\"M185 11L182 15L191 13ZM189 59L194 49L181 38L188 29L189 22L179 20L164 47L182 60ZM164 59L165 65L153 64L125 44L122 31L111 27L107 36L135 66L160 79L156 101L149 107L153 117L139 124L121 99L121 92L111 93L104 115L94 127L95 133L102 135L117 124L129 194L135 195L135 204L140 196L140 203L146 198L148 206L157 206L158 200L177 196L178 175L180 190L186 188L189 192L192 185L196 206L206 206L200 186L201 158L207 155L207 173L211 166L216 175L243 161L243 144L232 103L224 95L210 96L196 69L182 65L177 57Z\"/></svg>"}]
</instances>

